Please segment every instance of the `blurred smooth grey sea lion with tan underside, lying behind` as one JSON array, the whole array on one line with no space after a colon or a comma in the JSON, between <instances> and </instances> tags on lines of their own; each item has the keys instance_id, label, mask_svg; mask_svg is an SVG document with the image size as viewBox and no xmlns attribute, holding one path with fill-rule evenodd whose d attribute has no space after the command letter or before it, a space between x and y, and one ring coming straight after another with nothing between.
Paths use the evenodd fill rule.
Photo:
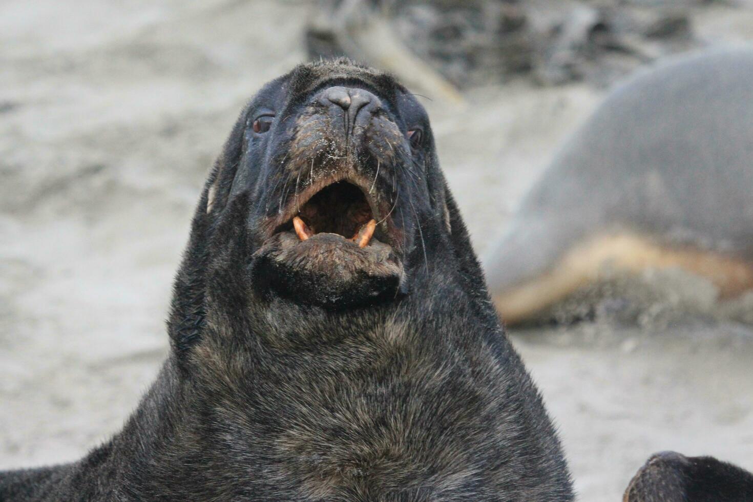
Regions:
<instances>
[{"instance_id":1,"label":"blurred smooth grey sea lion with tan underside, lying behind","mask_svg":"<svg viewBox=\"0 0 753 502\"><path fill-rule=\"evenodd\" d=\"M753 49L684 56L617 87L484 260L508 323L602 272L681 269L753 288Z\"/></svg>"}]
</instances>

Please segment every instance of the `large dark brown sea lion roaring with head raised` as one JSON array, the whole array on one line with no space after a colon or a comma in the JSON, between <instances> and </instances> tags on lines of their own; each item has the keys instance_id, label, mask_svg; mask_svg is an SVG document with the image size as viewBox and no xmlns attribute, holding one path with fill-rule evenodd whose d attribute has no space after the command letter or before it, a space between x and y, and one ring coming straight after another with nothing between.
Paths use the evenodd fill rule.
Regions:
<instances>
[{"instance_id":1,"label":"large dark brown sea lion roaring with head raised","mask_svg":"<svg viewBox=\"0 0 753 502\"><path fill-rule=\"evenodd\" d=\"M168 331L123 430L2 474L0 499L573 499L428 117L389 75L300 65L251 100L197 205Z\"/></svg>"}]
</instances>

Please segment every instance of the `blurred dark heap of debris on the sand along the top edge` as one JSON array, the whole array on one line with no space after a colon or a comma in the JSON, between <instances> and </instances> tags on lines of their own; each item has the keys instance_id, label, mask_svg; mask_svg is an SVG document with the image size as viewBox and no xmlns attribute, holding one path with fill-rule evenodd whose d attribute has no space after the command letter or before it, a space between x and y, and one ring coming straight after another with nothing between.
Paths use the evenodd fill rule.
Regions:
<instances>
[{"instance_id":1,"label":"blurred dark heap of debris on the sand along the top edge","mask_svg":"<svg viewBox=\"0 0 753 502\"><path fill-rule=\"evenodd\" d=\"M688 9L710 2L364 0L364 5L386 13L406 47L459 87L515 77L600 86L657 57L700 46ZM341 2L321 5L335 16ZM309 57L319 59L345 54L347 44L312 24L306 47Z\"/></svg>"}]
</instances>

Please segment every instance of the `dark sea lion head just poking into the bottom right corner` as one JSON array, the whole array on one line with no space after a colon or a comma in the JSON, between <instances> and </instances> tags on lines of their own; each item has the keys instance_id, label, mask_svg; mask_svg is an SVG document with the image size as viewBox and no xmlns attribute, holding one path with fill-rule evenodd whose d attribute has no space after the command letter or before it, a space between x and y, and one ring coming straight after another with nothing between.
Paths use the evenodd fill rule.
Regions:
<instances>
[{"instance_id":1,"label":"dark sea lion head just poking into the bottom right corner","mask_svg":"<svg viewBox=\"0 0 753 502\"><path fill-rule=\"evenodd\" d=\"M660 452L638 470L623 502L747 502L753 474L713 457Z\"/></svg>"}]
</instances>

